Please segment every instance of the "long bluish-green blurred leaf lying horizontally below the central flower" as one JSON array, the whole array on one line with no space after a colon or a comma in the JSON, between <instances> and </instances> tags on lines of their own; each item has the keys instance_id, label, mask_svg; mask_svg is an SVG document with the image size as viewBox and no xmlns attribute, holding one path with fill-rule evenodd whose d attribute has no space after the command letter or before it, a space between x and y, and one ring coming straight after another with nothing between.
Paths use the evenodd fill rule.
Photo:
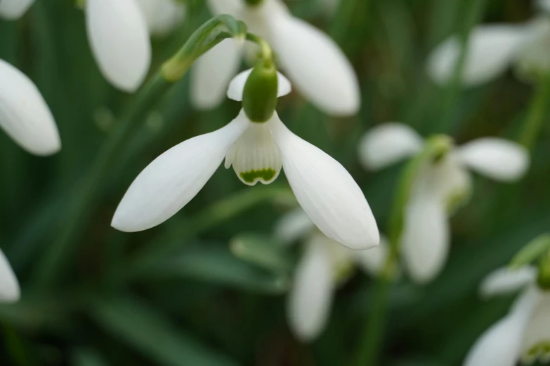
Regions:
<instances>
[{"instance_id":1,"label":"long bluish-green blurred leaf lying horizontally below the central flower","mask_svg":"<svg viewBox=\"0 0 550 366\"><path fill-rule=\"evenodd\" d=\"M225 245L201 245L188 248L150 268L148 276L157 279L185 278L251 290L280 294L289 288L289 278L277 272L236 258Z\"/></svg>"}]
</instances>

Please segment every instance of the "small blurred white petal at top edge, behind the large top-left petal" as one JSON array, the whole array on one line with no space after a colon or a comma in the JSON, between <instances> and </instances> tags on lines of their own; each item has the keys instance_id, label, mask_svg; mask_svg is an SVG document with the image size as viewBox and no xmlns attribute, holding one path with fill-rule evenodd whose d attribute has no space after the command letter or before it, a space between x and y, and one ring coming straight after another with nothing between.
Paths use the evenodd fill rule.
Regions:
<instances>
[{"instance_id":1,"label":"small blurred white petal at top edge, behind the large top-left petal","mask_svg":"<svg viewBox=\"0 0 550 366\"><path fill-rule=\"evenodd\" d=\"M175 0L138 0L152 36L165 36L176 29L185 16L185 6Z\"/></svg>"}]
</instances>

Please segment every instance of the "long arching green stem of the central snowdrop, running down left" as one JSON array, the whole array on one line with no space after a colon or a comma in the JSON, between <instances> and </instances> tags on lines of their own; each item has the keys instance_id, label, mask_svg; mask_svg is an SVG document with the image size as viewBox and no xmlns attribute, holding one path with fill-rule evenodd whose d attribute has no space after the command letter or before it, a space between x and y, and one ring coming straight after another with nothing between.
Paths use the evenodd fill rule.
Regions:
<instances>
[{"instance_id":1,"label":"long arching green stem of the central snowdrop, running down left","mask_svg":"<svg viewBox=\"0 0 550 366\"><path fill-rule=\"evenodd\" d=\"M102 191L103 180L109 175L117 158L122 155L126 140L136 131L147 111L173 83L185 75L193 61L223 39L244 36L243 32L246 33L244 23L229 15L219 15L208 20L190 36L178 53L140 88L133 104L120 118L70 200L69 207L64 212L66 215L60 220L63 225L60 236L48 247L34 272L33 284L36 287L51 285L63 272L63 267L68 262L66 259L74 256L77 249L74 243L93 214L93 208Z\"/></svg>"}]
</instances>

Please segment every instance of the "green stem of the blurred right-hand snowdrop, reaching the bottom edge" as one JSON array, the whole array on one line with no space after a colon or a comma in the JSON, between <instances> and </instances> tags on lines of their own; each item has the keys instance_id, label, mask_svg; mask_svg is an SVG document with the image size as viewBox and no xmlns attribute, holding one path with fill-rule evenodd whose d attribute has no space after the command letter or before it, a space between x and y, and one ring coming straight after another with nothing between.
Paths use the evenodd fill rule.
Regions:
<instances>
[{"instance_id":1,"label":"green stem of the blurred right-hand snowdrop, reaching the bottom edge","mask_svg":"<svg viewBox=\"0 0 550 366\"><path fill-rule=\"evenodd\" d=\"M412 187L417 179L418 172L424 164L447 154L447 151L450 151L451 148L452 141L449 137L443 135L431 137L426 141L421 154L410 161L401 176L388 223L390 250L377 279L372 308L367 317L355 358L355 365L357 366L374 366L378 364L379 350L384 339L388 294L398 267L405 208L410 201Z\"/></svg>"}]
</instances>

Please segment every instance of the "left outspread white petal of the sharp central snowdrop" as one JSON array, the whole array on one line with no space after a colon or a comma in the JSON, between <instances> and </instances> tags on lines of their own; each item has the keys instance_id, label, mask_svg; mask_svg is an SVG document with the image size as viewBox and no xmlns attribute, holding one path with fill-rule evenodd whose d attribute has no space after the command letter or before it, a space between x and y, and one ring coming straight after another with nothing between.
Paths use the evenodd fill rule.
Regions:
<instances>
[{"instance_id":1,"label":"left outspread white petal of the sharp central snowdrop","mask_svg":"<svg viewBox=\"0 0 550 366\"><path fill-rule=\"evenodd\" d=\"M169 219L204 187L247 126L241 113L227 126L186 140L156 158L126 191L112 226L142 231Z\"/></svg>"}]
</instances>

